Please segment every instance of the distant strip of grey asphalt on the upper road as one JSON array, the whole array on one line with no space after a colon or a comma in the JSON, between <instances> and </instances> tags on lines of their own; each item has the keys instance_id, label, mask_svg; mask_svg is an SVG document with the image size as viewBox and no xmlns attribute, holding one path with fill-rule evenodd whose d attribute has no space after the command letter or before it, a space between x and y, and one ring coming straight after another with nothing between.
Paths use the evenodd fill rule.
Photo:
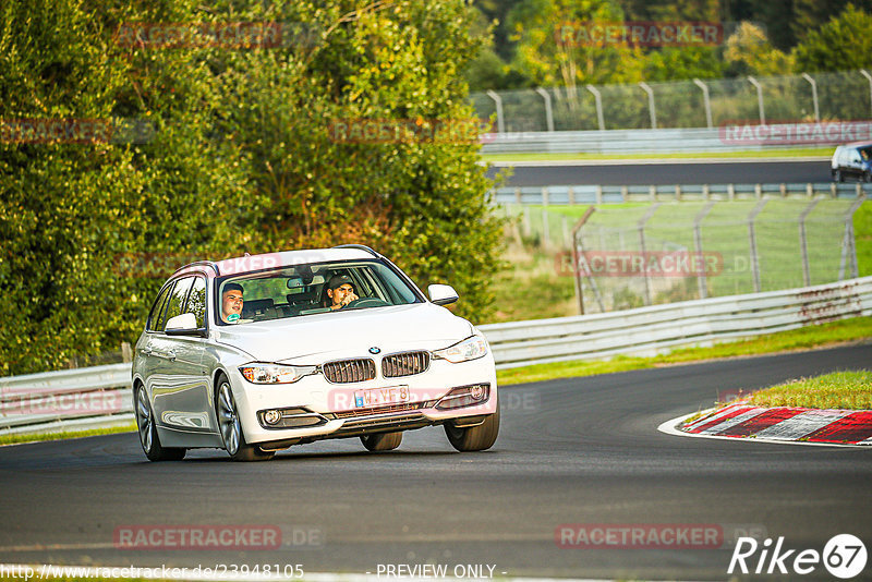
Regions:
<instances>
[{"instance_id":1,"label":"distant strip of grey asphalt on the upper road","mask_svg":"<svg viewBox=\"0 0 872 582\"><path fill-rule=\"evenodd\" d=\"M493 175L502 168L492 168ZM756 184L829 182L829 161L584 162L516 166L508 186Z\"/></svg>"}]
</instances>

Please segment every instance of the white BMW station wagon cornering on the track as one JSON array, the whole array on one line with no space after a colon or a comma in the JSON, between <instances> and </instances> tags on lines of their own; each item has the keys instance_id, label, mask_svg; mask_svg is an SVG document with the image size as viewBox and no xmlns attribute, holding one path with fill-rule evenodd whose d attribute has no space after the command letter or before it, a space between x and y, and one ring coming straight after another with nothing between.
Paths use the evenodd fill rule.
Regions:
<instances>
[{"instance_id":1,"label":"white BMW station wagon cornering on the track","mask_svg":"<svg viewBox=\"0 0 872 582\"><path fill-rule=\"evenodd\" d=\"M177 270L133 361L140 440L152 461L221 448L266 460L292 445L360 437L371 451L444 425L460 451L499 432L487 341L362 245L289 251Z\"/></svg>"}]
</instances>

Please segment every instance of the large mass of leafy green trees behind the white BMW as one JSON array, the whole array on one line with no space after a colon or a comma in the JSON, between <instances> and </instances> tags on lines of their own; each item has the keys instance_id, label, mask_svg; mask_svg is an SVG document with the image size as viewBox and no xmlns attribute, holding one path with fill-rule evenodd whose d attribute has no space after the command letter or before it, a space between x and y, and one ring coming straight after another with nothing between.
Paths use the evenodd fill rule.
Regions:
<instances>
[{"instance_id":1,"label":"large mass of leafy green trees behind the white BMW","mask_svg":"<svg viewBox=\"0 0 872 582\"><path fill-rule=\"evenodd\" d=\"M473 118L460 0L0 8L0 120L135 119L142 143L0 140L0 374L62 366L142 329L195 258L372 244L457 311L492 300L499 223L475 140L349 143L332 120ZM124 46L121 23L279 22L276 48ZM446 121L447 123L447 121ZM131 260L132 258L132 260Z\"/></svg>"}]
</instances>

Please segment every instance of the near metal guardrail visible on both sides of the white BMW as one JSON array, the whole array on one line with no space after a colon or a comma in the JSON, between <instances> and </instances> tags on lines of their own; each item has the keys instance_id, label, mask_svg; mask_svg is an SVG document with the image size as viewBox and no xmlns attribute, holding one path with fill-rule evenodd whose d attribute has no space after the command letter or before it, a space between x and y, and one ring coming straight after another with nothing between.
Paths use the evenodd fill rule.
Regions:
<instances>
[{"instance_id":1,"label":"near metal guardrail visible on both sides of the white BMW","mask_svg":"<svg viewBox=\"0 0 872 582\"><path fill-rule=\"evenodd\" d=\"M872 315L872 277L596 315L480 326L498 368L653 355ZM130 364L0 378L0 432L111 426L133 411ZM22 414L22 405L29 407ZM51 410L45 410L51 409Z\"/></svg>"}]
</instances>

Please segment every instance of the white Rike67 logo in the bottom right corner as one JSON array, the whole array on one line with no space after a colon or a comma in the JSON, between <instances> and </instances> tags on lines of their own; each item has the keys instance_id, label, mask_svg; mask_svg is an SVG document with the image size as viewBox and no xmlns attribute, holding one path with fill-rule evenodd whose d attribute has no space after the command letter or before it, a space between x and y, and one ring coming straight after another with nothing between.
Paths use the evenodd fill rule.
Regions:
<instances>
[{"instance_id":1,"label":"white Rike67 logo in the bottom right corner","mask_svg":"<svg viewBox=\"0 0 872 582\"><path fill-rule=\"evenodd\" d=\"M753 537L740 537L732 550L727 573L737 571L743 574L787 574L804 575L813 572L822 562L834 577L847 580L865 568L865 546L859 537L851 534L834 535L824 546L823 553L815 549L783 549L784 536L778 537L772 547L772 539L759 544ZM758 550L760 550L758 556Z\"/></svg>"}]
</instances>

